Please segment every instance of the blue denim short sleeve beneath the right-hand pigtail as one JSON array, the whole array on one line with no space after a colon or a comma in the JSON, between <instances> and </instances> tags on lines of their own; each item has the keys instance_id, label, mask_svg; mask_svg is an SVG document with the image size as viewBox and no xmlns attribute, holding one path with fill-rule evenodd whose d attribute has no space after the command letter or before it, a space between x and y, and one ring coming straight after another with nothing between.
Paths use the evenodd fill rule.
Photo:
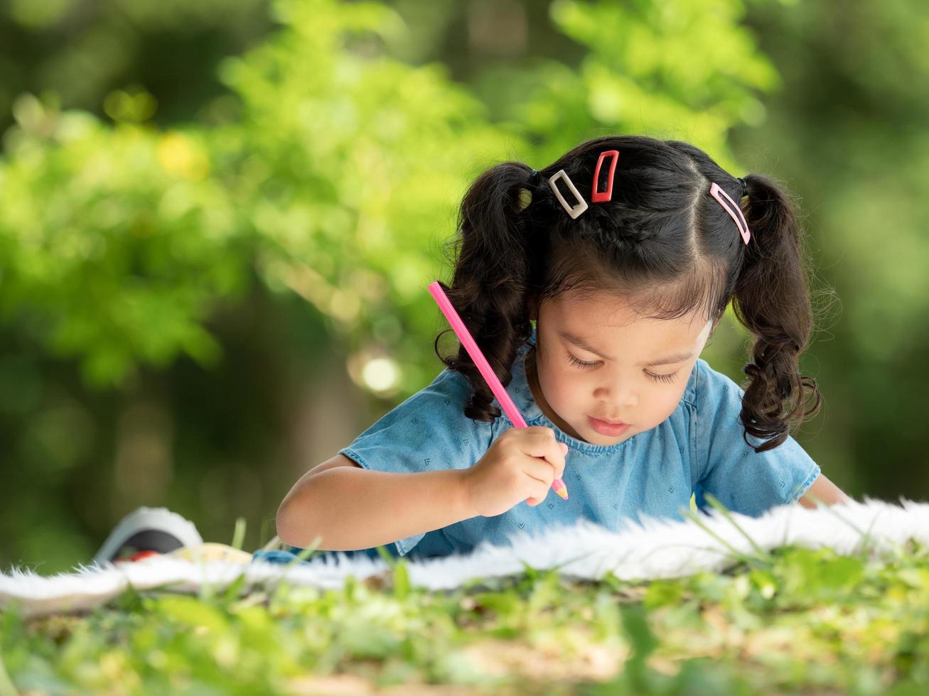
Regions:
<instances>
[{"instance_id":1,"label":"blue denim short sleeve beneath the right-hand pigtail","mask_svg":"<svg viewBox=\"0 0 929 696\"><path fill-rule=\"evenodd\" d=\"M818 464L792 436L774 449L755 452L743 439L739 418L744 390L702 359L698 369L697 506L712 509L703 495L711 493L726 509L758 517L767 509L797 501L816 481ZM754 445L763 442L751 434L747 438Z\"/></svg>"}]
</instances>

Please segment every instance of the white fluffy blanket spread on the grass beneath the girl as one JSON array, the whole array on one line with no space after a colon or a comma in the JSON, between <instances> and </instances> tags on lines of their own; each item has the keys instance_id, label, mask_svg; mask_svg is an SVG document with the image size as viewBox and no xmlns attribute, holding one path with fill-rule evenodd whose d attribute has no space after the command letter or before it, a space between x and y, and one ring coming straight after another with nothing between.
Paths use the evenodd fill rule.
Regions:
<instances>
[{"instance_id":1,"label":"white fluffy blanket spread on the grass beneath the girl","mask_svg":"<svg viewBox=\"0 0 929 696\"><path fill-rule=\"evenodd\" d=\"M759 518L713 510L685 522L645 518L611 532L593 522L560 527L543 535L519 533L512 546L478 546L467 555L408 560L412 586L451 589L473 578L520 574L524 563L536 569L559 567L569 578L596 580L611 571L626 580L680 577L701 570L723 571L742 556L783 546L829 547L837 553L885 558L909 539L929 545L929 503L904 498L900 505L865 496L864 502L805 509L785 505ZM127 587L196 593L209 584L221 590L244 574L242 591L254 586L342 586L347 575L361 580L388 570L381 559L312 559L307 564L200 561L153 556L117 566L79 566L71 573L44 577L11 569L0 574L0 609L20 606L25 616L81 612L98 607Z\"/></svg>"}]
</instances>

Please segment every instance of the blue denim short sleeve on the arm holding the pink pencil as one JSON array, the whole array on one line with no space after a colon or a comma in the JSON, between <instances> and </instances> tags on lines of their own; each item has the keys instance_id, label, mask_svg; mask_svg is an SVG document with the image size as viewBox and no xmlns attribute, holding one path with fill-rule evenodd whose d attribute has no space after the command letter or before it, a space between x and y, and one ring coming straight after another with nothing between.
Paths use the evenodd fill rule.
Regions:
<instances>
[{"instance_id":1,"label":"blue denim short sleeve on the arm holding the pink pencil","mask_svg":"<svg viewBox=\"0 0 929 696\"><path fill-rule=\"evenodd\" d=\"M491 446L492 423L464 416L470 383L458 372L442 370L425 389L376 420L355 440L339 450L363 468L374 471L467 469ZM404 502L396 501L398 514ZM394 543L401 556L422 534Z\"/></svg>"}]
</instances>

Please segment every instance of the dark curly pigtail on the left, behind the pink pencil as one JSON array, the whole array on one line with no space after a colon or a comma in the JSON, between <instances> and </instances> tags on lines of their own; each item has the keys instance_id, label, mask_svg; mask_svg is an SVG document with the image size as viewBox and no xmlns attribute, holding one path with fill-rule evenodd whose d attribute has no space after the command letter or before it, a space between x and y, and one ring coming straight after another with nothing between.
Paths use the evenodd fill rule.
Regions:
<instances>
[{"instance_id":1,"label":"dark curly pigtail on the left, behind the pink pencil","mask_svg":"<svg viewBox=\"0 0 929 696\"><path fill-rule=\"evenodd\" d=\"M532 174L526 164L507 161L478 176L458 214L451 288L439 281L504 387L513 378L519 346L531 334L527 313L530 220L523 209L529 203L527 194L531 196L535 188ZM446 367L471 383L473 393L464 415L484 421L499 418L500 409L491 406L493 393L464 345L459 343L455 355L438 353L438 340L447 331L451 329L436 337L435 350Z\"/></svg>"}]
</instances>

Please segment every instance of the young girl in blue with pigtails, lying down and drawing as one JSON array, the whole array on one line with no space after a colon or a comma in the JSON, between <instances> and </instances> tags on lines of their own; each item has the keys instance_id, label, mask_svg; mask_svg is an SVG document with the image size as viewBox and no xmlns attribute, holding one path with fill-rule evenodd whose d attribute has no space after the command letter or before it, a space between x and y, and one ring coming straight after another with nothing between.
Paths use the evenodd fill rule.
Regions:
<instances>
[{"instance_id":1,"label":"young girl in blue with pigtails, lying down and drawing","mask_svg":"<svg viewBox=\"0 0 929 696\"><path fill-rule=\"evenodd\" d=\"M682 519L692 493L752 516L847 499L790 435L821 395L798 369L812 324L801 231L770 179L737 179L681 141L598 137L539 172L507 161L478 176L455 251L442 288L529 427L459 345L294 484L285 544L444 556L581 518ZM752 331L744 391L699 357L730 300ZM548 495L558 477L567 500Z\"/></svg>"}]
</instances>

